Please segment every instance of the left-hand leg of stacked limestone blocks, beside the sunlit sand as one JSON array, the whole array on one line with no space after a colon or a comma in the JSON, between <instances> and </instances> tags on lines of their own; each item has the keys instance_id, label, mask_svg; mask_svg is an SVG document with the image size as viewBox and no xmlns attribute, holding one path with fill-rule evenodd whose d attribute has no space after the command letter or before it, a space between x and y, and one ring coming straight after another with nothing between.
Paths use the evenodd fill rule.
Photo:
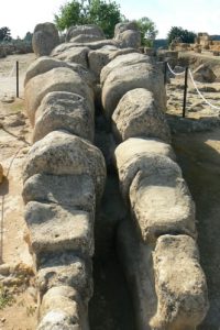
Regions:
<instances>
[{"instance_id":1,"label":"left-hand leg of stacked limestone blocks, beside the sunlit sand","mask_svg":"<svg viewBox=\"0 0 220 330\"><path fill-rule=\"evenodd\" d=\"M89 329L94 222L106 164L92 144L95 78L81 56L72 59L42 56L25 77L33 145L23 169L23 199L41 330Z\"/></svg>"}]
</instances>

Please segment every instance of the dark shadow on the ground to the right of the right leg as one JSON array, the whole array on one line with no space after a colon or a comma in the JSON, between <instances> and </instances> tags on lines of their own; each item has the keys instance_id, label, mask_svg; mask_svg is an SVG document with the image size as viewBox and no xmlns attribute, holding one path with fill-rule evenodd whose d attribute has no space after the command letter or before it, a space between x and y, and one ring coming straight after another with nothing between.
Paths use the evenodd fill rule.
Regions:
<instances>
[{"instance_id":1,"label":"dark shadow on the ground to the right of the right leg","mask_svg":"<svg viewBox=\"0 0 220 330\"><path fill-rule=\"evenodd\" d=\"M207 144L207 141L211 141ZM220 130L176 134L173 146L197 209L198 245L210 308L199 330L220 324Z\"/></svg>"}]
</instances>

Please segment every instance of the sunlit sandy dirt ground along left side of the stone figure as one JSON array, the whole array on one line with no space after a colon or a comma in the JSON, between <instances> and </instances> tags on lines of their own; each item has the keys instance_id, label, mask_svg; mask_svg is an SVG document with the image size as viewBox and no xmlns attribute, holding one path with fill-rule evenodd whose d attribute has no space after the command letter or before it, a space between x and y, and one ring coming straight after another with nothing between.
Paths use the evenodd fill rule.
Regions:
<instances>
[{"instance_id":1,"label":"sunlit sandy dirt ground along left side of the stone figure","mask_svg":"<svg viewBox=\"0 0 220 330\"><path fill-rule=\"evenodd\" d=\"M4 173L0 185L0 329L6 330L32 330L36 326L36 292L32 257L24 241L21 196L22 163L31 131L23 109L22 80L33 58L28 54L0 59L0 163ZM18 99L14 74L6 78L15 61L21 72Z\"/></svg>"}]
</instances>

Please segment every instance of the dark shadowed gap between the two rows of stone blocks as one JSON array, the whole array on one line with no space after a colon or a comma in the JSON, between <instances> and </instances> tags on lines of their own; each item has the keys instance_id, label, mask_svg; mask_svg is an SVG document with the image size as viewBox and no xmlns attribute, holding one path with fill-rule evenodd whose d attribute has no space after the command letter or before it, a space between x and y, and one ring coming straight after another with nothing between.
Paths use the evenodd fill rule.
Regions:
<instances>
[{"instance_id":1,"label":"dark shadowed gap between the two rows of stone blocks","mask_svg":"<svg viewBox=\"0 0 220 330\"><path fill-rule=\"evenodd\" d=\"M96 108L97 110L98 108ZM134 330L132 298L117 252L117 230L127 217L112 164L114 140L99 108L96 114L96 145L107 163L107 183L95 222L94 296L89 302L91 330Z\"/></svg>"}]
</instances>

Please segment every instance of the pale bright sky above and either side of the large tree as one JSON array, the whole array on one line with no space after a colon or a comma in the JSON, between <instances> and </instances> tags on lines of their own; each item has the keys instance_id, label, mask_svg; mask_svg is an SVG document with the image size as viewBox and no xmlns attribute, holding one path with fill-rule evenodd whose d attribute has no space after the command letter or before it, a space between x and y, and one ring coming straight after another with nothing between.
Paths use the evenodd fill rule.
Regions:
<instances>
[{"instance_id":1,"label":"pale bright sky above and either side of the large tree","mask_svg":"<svg viewBox=\"0 0 220 330\"><path fill-rule=\"evenodd\" d=\"M69 2L70 0L68 0ZM0 28L8 26L12 37L23 38L37 23L53 22L66 0L0 0ZM150 18L167 36L172 26L220 34L220 0L116 0L129 20Z\"/></svg>"}]
</instances>

